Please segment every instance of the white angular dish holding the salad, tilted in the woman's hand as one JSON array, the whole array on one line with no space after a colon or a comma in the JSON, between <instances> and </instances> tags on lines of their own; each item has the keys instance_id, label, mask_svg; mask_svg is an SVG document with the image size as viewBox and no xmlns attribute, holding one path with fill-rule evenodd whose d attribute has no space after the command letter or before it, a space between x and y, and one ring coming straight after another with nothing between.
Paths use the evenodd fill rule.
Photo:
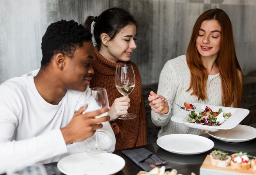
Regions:
<instances>
[{"instance_id":1,"label":"white angular dish holding the salad, tilted in the woman's hand","mask_svg":"<svg viewBox=\"0 0 256 175\"><path fill-rule=\"evenodd\" d=\"M229 117L229 119L227 119L220 126L207 126L207 125L202 125L198 123L189 123L188 112L185 110L180 110L177 114L171 117L171 120L177 123L183 123L186 126L189 126L191 128L197 128L201 130L216 132L218 130L229 130L229 129L235 128L249 114L249 110L243 109L243 108L229 108L229 107L216 106L216 105L205 105L201 103L193 103L193 105L196 106L195 111L200 111L202 109L205 109L205 106L208 106L213 111L218 111L219 108L222 108L223 112L227 112L227 113L231 112L232 116Z\"/></svg>"}]
</instances>

